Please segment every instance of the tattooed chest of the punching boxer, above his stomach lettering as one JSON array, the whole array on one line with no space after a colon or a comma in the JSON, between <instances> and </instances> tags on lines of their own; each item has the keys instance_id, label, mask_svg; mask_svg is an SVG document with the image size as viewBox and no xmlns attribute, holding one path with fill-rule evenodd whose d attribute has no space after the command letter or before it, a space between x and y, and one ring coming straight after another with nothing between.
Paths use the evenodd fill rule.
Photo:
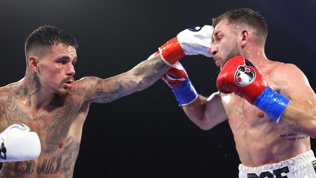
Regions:
<instances>
[{"instance_id":1,"label":"tattooed chest of the punching boxer, above his stomach lettering","mask_svg":"<svg viewBox=\"0 0 316 178\"><path fill-rule=\"evenodd\" d=\"M81 130L88 108L82 109L80 99L67 99L65 103L48 110L31 112L13 96L1 105L1 129L15 123L23 123L38 134L42 153L62 152L69 141L80 142Z\"/></svg>"}]
</instances>

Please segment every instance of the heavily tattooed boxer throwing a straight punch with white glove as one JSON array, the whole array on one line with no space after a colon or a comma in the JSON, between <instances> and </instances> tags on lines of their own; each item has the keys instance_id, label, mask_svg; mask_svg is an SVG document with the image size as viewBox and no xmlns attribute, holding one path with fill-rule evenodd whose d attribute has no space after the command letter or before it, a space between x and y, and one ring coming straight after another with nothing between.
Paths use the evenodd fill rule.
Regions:
<instances>
[{"instance_id":1,"label":"heavily tattooed boxer throwing a straight punch with white glove","mask_svg":"<svg viewBox=\"0 0 316 178\"><path fill-rule=\"evenodd\" d=\"M76 40L55 27L39 27L25 42L25 77L0 88L0 131L15 123L27 125L38 134L40 155L3 162L0 177L72 178L91 103L111 102L148 88L183 56L210 55L210 43L208 30L187 29L162 45L161 55L130 71L107 79L74 81ZM29 133L25 130L21 134ZM15 149L20 146L17 143Z\"/></svg>"}]
</instances>

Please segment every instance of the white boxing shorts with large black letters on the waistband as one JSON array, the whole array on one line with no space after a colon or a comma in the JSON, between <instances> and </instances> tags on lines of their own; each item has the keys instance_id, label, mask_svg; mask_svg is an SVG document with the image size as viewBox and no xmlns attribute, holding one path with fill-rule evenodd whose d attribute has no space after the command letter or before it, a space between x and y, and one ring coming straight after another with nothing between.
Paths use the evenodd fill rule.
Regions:
<instances>
[{"instance_id":1,"label":"white boxing shorts with large black letters on the waistband","mask_svg":"<svg viewBox=\"0 0 316 178\"><path fill-rule=\"evenodd\" d=\"M294 158L259 167L239 164L239 178L316 178L316 158L312 150Z\"/></svg>"}]
</instances>

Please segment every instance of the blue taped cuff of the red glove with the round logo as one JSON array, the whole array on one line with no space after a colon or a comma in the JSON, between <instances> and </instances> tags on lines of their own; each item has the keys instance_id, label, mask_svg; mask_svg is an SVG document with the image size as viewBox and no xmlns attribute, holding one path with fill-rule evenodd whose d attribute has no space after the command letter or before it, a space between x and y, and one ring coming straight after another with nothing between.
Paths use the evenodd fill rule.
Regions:
<instances>
[{"instance_id":1,"label":"blue taped cuff of the red glove with the round logo","mask_svg":"<svg viewBox=\"0 0 316 178\"><path fill-rule=\"evenodd\" d=\"M254 105L279 123L281 114L289 103L289 99L267 86L256 98Z\"/></svg>"}]
</instances>

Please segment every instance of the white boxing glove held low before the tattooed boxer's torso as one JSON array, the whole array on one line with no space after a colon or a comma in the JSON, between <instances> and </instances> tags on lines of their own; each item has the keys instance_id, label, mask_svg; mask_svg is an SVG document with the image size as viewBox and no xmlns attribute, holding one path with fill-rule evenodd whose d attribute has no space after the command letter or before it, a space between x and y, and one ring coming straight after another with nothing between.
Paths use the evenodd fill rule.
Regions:
<instances>
[{"instance_id":1,"label":"white boxing glove held low before the tattooed boxer's torso","mask_svg":"<svg viewBox=\"0 0 316 178\"><path fill-rule=\"evenodd\" d=\"M39 156L39 137L30 130L28 126L17 123L0 133L0 162L32 160Z\"/></svg>"}]
</instances>

